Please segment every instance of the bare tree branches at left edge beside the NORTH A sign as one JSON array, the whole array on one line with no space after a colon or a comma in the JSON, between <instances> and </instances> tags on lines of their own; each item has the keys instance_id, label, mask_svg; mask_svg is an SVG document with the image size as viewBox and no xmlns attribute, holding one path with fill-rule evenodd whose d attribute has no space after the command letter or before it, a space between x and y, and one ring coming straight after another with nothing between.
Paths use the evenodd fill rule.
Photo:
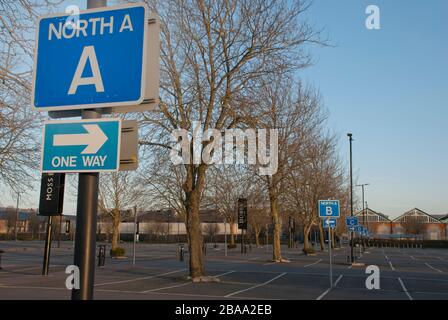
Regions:
<instances>
[{"instance_id":1,"label":"bare tree branches at left edge beside the NORTH A sign","mask_svg":"<svg viewBox=\"0 0 448 320\"><path fill-rule=\"evenodd\" d=\"M42 5L42 3L41 3ZM0 1L0 187L30 187L40 116L30 106L37 1Z\"/></svg>"}]
</instances>

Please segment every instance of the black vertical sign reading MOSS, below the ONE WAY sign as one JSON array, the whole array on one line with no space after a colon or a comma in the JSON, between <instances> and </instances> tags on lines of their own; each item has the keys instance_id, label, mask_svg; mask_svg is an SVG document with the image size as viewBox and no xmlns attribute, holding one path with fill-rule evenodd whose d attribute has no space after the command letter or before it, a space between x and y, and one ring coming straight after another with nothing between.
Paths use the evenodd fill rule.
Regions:
<instances>
[{"instance_id":1,"label":"black vertical sign reading MOSS, below the ONE WAY sign","mask_svg":"<svg viewBox=\"0 0 448 320\"><path fill-rule=\"evenodd\" d=\"M64 205L65 173L43 173L40 186L39 215L59 216Z\"/></svg>"}]
</instances>

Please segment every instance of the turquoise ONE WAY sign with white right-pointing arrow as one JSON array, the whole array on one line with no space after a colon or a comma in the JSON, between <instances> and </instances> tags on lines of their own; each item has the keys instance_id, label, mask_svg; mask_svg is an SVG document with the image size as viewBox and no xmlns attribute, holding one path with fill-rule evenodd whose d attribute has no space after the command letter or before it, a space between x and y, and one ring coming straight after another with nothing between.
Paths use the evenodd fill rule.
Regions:
<instances>
[{"instance_id":1,"label":"turquoise ONE WAY sign with white right-pointing arrow","mask_svg":"<svg viewBox=\"0 0 448 320\"><path fill-rule=\"evenodd\" d=\"M42 172L118 171L120 119L47 121Z\"/></svg>"}]
</instances>

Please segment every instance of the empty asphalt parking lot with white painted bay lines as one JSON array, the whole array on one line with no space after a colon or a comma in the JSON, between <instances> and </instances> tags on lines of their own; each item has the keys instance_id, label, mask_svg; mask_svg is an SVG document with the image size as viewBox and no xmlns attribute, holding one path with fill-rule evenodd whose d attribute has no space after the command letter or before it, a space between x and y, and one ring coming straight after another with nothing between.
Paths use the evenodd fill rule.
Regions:
<instances>
[{"instance_id":1,"label":"empty asphalt parking lot with white painted bay lines","mask_svg":"<svg viewBox=\"0 0 448 320\"><path fill-rule=\"evenodd\" d=\"M73 263L73 243L53 244L48 276L41 276L43 242L0 242L0 299L70 299L65 268ZM188 255L179 261L177 244L137 244L132 267L132 244L126 259L106 258L95 274L95 299L306 299L306 300L447 300L448 250L420 248L369 248L358 262L347 263L348 248L332 251L330 288L329 253L306 256L300 248L283 247L290 263L272 263L269 248L252 247L224 254L223 245L208 245L206 270L219 282L188 280ZM380 289L368 290L366 266L380 269Z\"/></svg>"}]
</instances>

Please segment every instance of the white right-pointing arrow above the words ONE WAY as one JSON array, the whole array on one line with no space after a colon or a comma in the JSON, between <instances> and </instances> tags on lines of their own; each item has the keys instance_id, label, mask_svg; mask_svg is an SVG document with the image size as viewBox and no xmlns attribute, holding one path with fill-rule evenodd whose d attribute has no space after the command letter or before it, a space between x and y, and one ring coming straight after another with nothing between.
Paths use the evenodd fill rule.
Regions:
<instances>
[{"instance_id":1,"label":"white right-pointing arrow above the words ONE WAY","mask_svg":"<svg viewBox=\"0 0 448 320\"><path fill-rule=\"evenodd\" d=\"M84 124L83 127L88 133L54 135L53 145L56 147L87 145L81 154L97 153L107 141L107 136L97 124Z\"/></svg>"}]
</instances>

